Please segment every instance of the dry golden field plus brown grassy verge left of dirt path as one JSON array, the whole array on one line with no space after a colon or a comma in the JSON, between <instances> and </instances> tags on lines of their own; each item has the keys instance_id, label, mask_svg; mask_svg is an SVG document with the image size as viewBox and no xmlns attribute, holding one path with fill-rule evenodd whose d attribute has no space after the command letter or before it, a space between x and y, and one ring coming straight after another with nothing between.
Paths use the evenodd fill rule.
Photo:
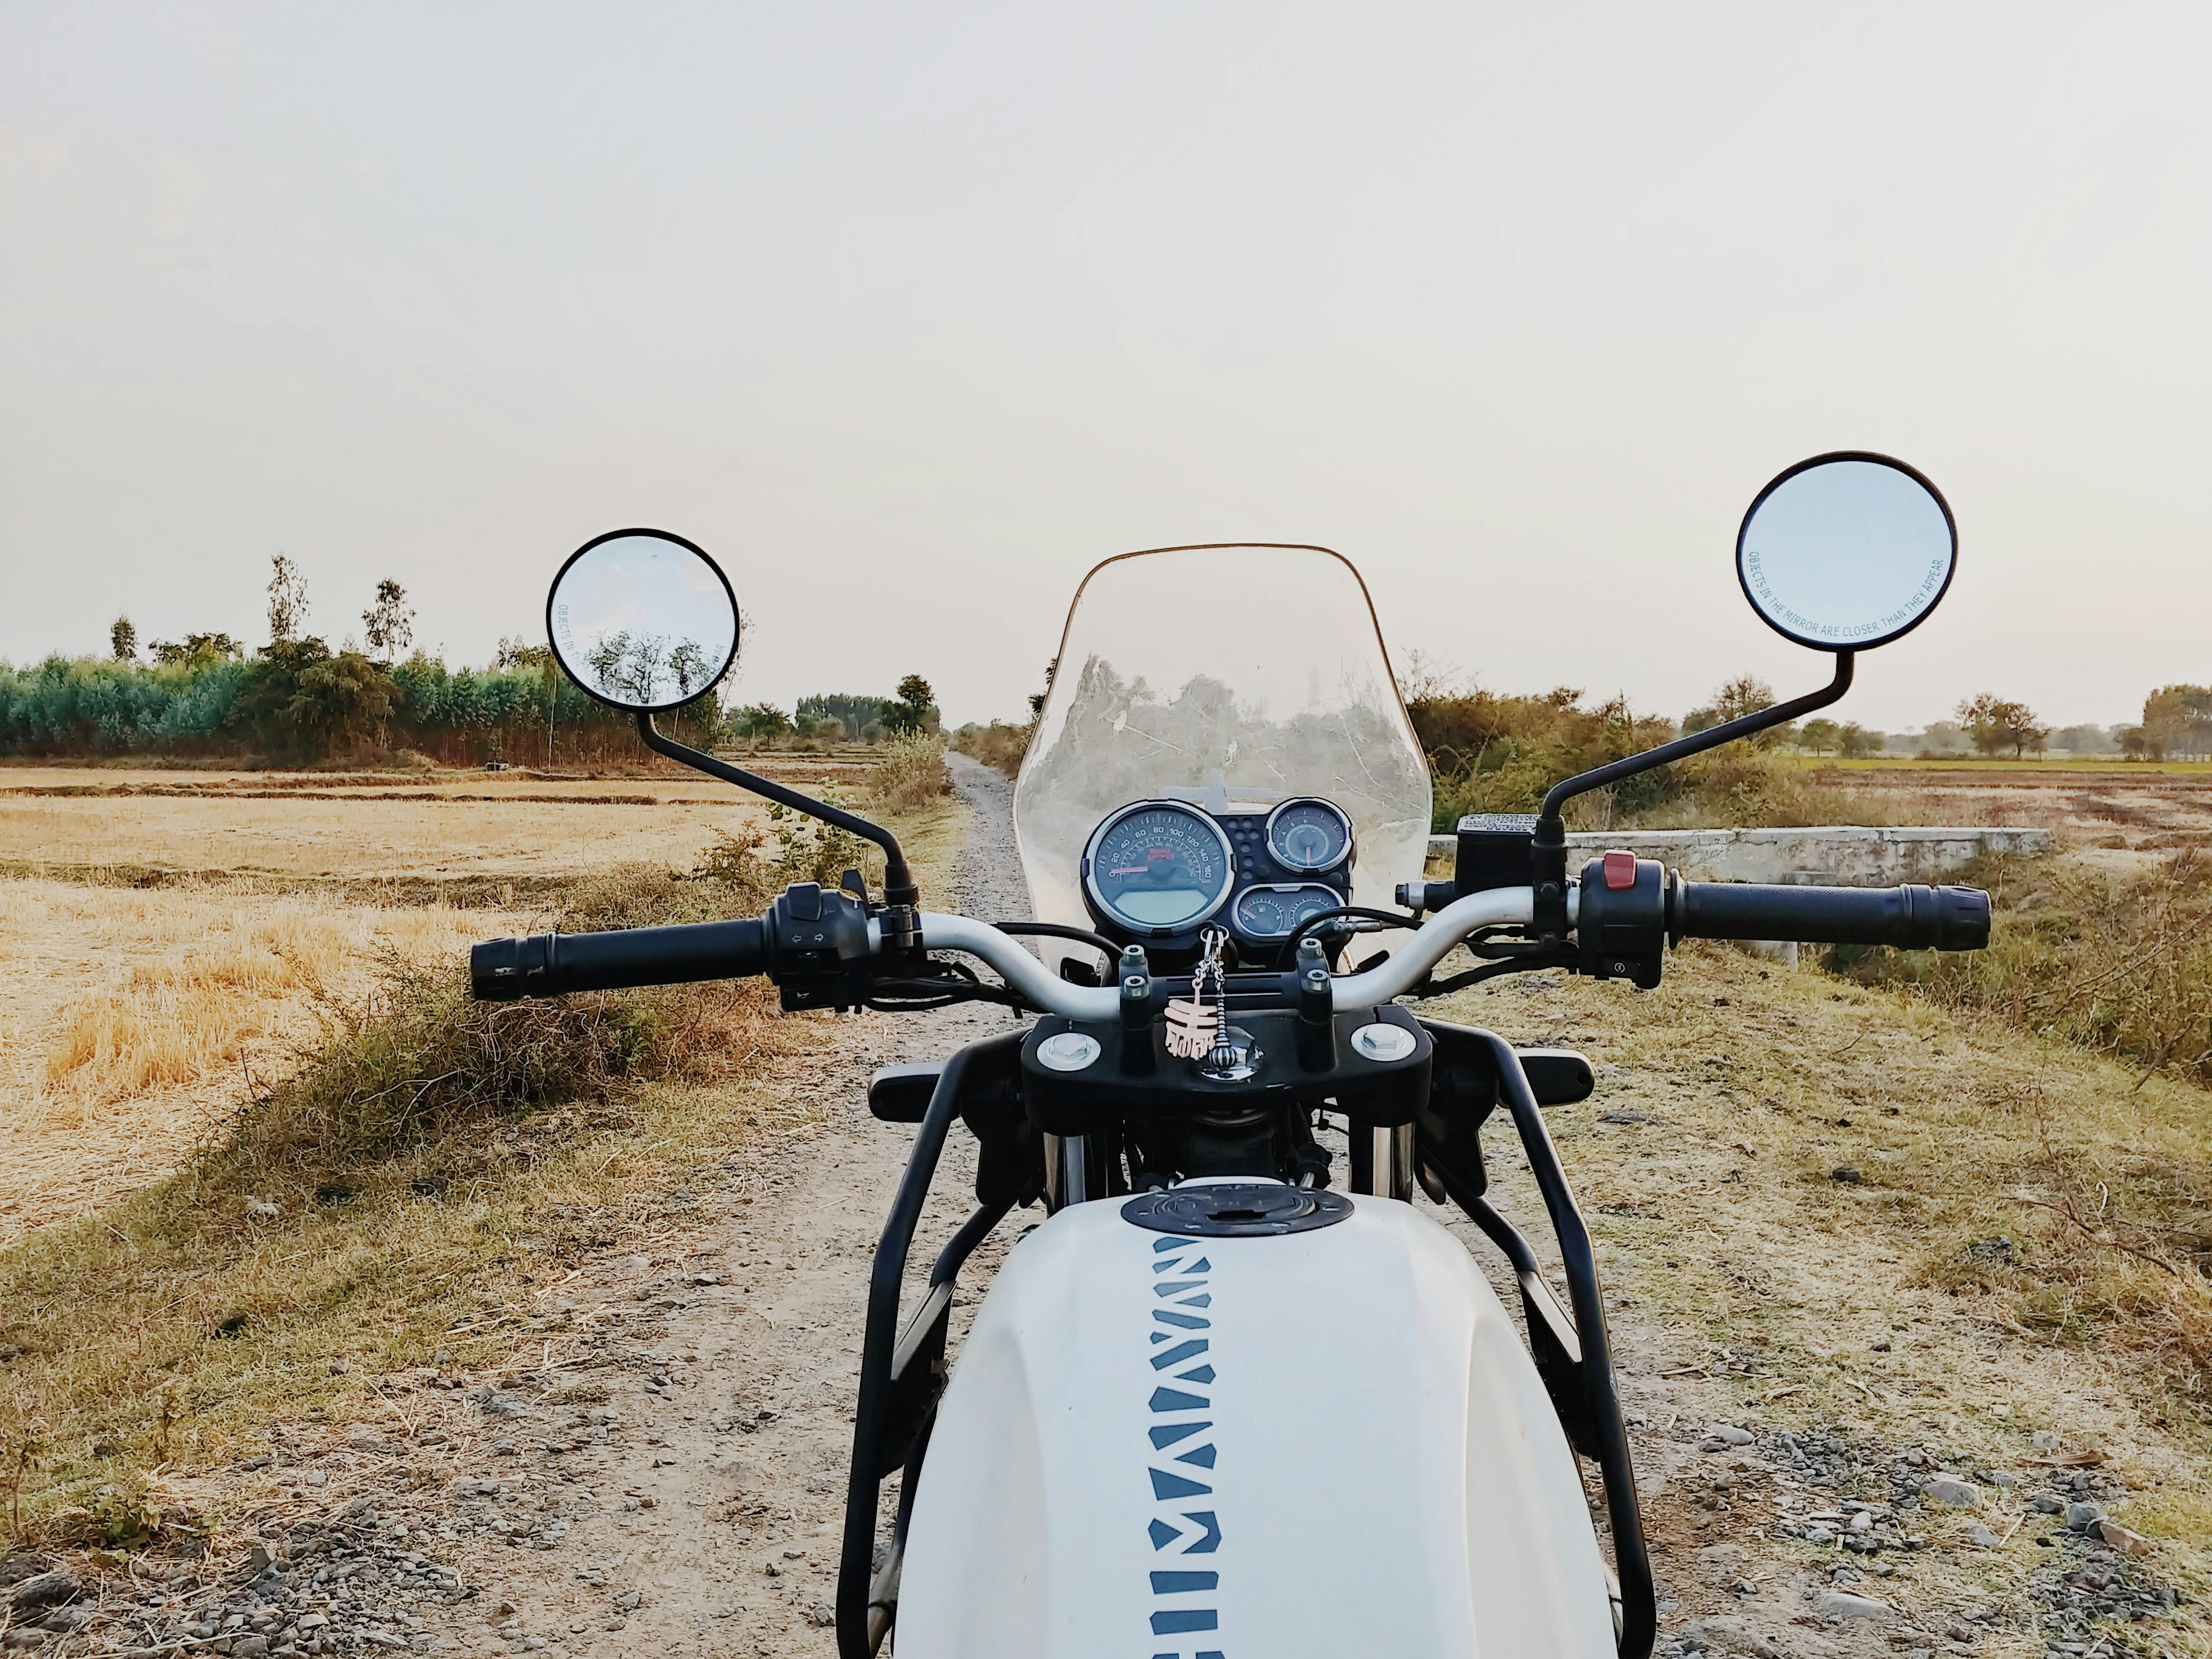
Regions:
<instances>
[{"instance_id":1,"label":"dry golden field plus brown grassy verge left of dirt path","mask_svg":"<svg viewBox=\"0 0 2212 1659\"><path fill-rule=\"evenodd\" d=\"M869 783L834 757L779 772ZM885 776L940 872L958 810L911 763ZM688 874L776 852L734 792L58 768L0 787L0 1427L13 1478L40 1469L33 1509L77 1515L53 1537L133 1535L128 1493L325 1411L347 1363L467 1347L456 1307L664 1230L637 1217L805 1073L761 987L513 1011L460 989L480 938L757 911L781 883L761 858Z\"/></svg>"}]
</instances>

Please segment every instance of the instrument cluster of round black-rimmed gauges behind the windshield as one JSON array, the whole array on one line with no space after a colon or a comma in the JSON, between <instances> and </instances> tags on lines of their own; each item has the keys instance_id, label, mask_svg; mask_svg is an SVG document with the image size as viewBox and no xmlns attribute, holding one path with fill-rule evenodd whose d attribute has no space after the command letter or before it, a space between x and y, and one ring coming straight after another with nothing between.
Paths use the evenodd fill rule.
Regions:
<instances>
[{"instance_id":1,"label":"instrument cluster of round black-rimmed gauges behind the windshield","mask_svg":"<svg viewBox=\"0 0 2212 1659\"><path fill-rule=\"evenodd\" d=\"M1091 832L1084 900L1137 940L1186 940L1221 922L1248 945L1279 945L1349 900L1352 854L1352 818L1321 796L1223 814L1133 801Z\"/></svg>"}]
</instances>

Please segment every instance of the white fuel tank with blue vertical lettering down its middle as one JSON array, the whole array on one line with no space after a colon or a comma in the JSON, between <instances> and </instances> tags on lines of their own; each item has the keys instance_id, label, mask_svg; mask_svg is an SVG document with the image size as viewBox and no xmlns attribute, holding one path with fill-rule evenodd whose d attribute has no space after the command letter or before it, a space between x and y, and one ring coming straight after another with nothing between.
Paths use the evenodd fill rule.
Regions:
<instances>
[{"instance_id":1,"label":"white fuel tank with blue vertical lettering down its middle","mask_svg":"<svg viewBox=\"0 0 2212 1659\"><path fill-rule=\"evenodd\" d=\"M1407 1203L1188 1239L1062 1210L953 1365L896 1659L1610 1659L1535 1365Z\"/></svg>"}]
</instances>

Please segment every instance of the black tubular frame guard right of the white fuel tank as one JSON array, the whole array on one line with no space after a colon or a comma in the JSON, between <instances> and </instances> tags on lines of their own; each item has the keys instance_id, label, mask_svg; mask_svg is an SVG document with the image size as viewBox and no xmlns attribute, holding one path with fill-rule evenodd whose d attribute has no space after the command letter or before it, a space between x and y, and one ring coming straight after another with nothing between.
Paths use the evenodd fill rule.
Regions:
<instances>
[{"instance_id":1,"label":"black tubular frame guard right of the white fuel tank","mask_svg":"<svg viewBox=\"0 0 2212 1659\"><path fill-rule=\"evenodd\" d=\"M1575 1307L1575 1336L1582 1340L1582 1385L1590 1402L1590 1427L1597 1438L1597 1471L1606 1482L1606 1522L1613 1528L1613 1571L1621 1582L1619 1659L1650 1659L1659 1635L1659 1608L1652 1593L1652 1562L1644 1544L1644 1513L1637 1509L1637 1469L1628 1458L1628 1425L1621 1422L1621 1396L1613 1380L1613 1345L1606 1340L1606 1296L1597 1285L1597 1254L1590 1230L1575 1208L1575 1192L1559 1168L1559 1152L1544 1128L1544 1108L1535 1104L1528 1073L1522 1071L1513 1044L1495 1031L1478 1033L1491 1046L1498 1066L1498 1095L1513 1113L1528 1168L1535 1172L1551 1228L1559 1237L1559 1263L1566 1267L1566 1290ZM1480 1217L1478 1217L1480 1221ZM1489 1228L1484 1228L1489 1232Z\"/></svg>"}]
</instances>

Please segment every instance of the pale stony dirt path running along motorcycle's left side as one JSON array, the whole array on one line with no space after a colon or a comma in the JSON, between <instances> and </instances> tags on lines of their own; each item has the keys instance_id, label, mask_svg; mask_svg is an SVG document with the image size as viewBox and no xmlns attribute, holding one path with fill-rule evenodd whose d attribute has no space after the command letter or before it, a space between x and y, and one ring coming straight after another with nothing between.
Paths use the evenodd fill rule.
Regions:
<instances>
[{"instance_id":1,"label":"pale stony dirt path running along motorcycle's left side","mask_svg":"<svg viewBox=\"0 0 2212 1659\"><path fill-rule=\"evenodd\" d=\"M947 907L1026 916L1006 783L964 757L951 763L973 816ZM1013 1022L1004 1009L971 1006L830 1026L825 1037L849 1046L827 1055L814 1082L834 1099L825 1128L761 1148L734 1181L726 1221L681 1263L599 1263L562 1287L577 1307L630 1301L646 1312L611 1338L626 1363L608 1398L515 1402L509 1438L529 1447L604 1429L604 1440L575 1453L518 1451L473 1473L502 1491L460 1498L445 1528L471 1528L476 1544L453 1559L482 1593L440 1608L431 1635L473 1650L531 1639L568 1652L836 1650L830 1604L867 1270L914 1141L911 1128L867 1115L865 1082L876 1066L936 1060ZM973 1146L956 1133L922 1245L958 1225L971 1179ZM922 1245L916 1261L927 1265ZM984 1283L995 1256L987 1250L967 1283ZM697 1283L708 1276L719 1283ZM619 1427L562 1427L595 1413ZM557 1551L526 1553L476 1531L498 1511L520 1511L540 1537L549 1517L568 1526ZM520 1544L526 1531L511 1537Z\"/></svg>"}]
</instances>

